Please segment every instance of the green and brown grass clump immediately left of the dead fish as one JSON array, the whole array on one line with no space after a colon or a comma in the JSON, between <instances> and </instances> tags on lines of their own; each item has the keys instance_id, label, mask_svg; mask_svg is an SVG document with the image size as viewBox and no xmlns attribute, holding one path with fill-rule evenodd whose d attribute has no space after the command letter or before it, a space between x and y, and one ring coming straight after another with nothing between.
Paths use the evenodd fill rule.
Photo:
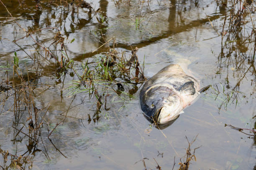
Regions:
<instances>
[{"instance_id":1,"label":"green and brown grass clump immediately left of the dead fish","mask_svg":"<svg viewBox=\"0 0 256 170\"><path fill-rule=\"evenodd\" d=\"M92 62L89 63L87 60L81 63L82 74L79 75L77 72L78 79L69 83L69 86L66 87L66 95L84 93L89 94L89 100L95 98L93 105L97 106L97 110L93 118L100 117L102 105L105 105L105 110L107 110L108 96L112 96L113 99L110 103L124 103L128 101L127 99L133 99L133 94L138 90L138 87L134 86L146 80L143 75L144 64L141 68L138 63L137 50L138 48L132 50L132 54L129 55L130 59L128 59L125 52L118 53L113 46L109 47L107 52L96 55ZM73 70L79 69L77 66L73 67ZM130 91L129 87L133 87L133 89ZM127 88L128 92L125 91Z\"/></svg>"}]
</instances>

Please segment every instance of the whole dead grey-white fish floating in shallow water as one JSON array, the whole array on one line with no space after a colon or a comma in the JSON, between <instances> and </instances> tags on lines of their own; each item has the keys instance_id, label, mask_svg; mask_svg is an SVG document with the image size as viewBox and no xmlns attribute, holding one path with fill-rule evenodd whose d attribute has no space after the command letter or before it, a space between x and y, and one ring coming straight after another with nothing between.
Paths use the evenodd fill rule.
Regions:
<instances>
[{"instance_id":1,"label":"whole dead grey-white fish floating in shallow water","mask_svg":"<svg viewBox=\"0 0 256 170\"><path fill-rule=\"evenodd\" d=\"M168 65L143 85L139 95L141 110L151 122L168 123L209 87L200 90L199 81L187 75L179 65Z\"/></svg>"}]
</instances>

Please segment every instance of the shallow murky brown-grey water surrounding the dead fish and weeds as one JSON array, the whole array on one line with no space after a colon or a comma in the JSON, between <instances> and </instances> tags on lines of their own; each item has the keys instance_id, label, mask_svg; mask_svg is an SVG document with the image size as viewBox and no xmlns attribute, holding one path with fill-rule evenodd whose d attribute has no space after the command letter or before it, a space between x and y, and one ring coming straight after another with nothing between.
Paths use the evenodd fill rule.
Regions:
<instances>
[{"instance_id":1,"label":"shallow murky brown-grey water surrounding the dead fish and weeds","mask_svg":"<svg viewBox=\"0 0 256 170\"><path fill-rule=\"evenodd\" d=\"M51 107L44 117L41 133L44 143L37 145L41 151L33 155L30 153L33 157L32 169L145 169L140 161L143 158L147 158L145 164L148 169L156 169L155 158L162 170L167 170L172 169L174 156L174 169L178 169L179 159L186 154L184 148L188 146L185 136L191 140L197 134L192 148L201 147L196 150L196 161L191 161L190 170L255 169L256 138L253 133L225 127L225 124L246 129L256 126L256 72L255 62L251 61L255 34L248 40L247 33L239 34L241 30L233 27L237 30L227 33L222 40L220 34L225 20L225 7L220 1L132 0L130 5L127 1L91 1L93 8L100 8L98 16L101 23L93 16L90 18L85 8L79 8L78 17L77 14L72 16L70 4L67 9L59 2L56 2L57 5L41 2L42 8L37 9L33 1L25 1L26 5L22 7L19 7L18 1L3 2L13 17L19 18L17 23L31 32L46 27L59 28L68 39L67 53L78 70L81 62L85 62L88 57L90 60L99 57L106 49L102 47L92 53L100 47L102 34L105 40L115 37L118 52L129 53L131 47L138 47L139 61L143 63L145 60L146 77L151 77L170 63L178 63L185 65L200 80L201 87L212 85L220 91L218 97L214 96L216 91L213 88L204 92L171 126L162 131L151 128L143 117L138 100L140 88L131 98L112 93L107 103L110 110L103 109L100 119L95 123L92 121L89 124L87 121L88 114L93 115L95 111L95 105L92 105L95 99L85 100L82 105L69 110L70 117L51 134L52 142L65 158L47 136L56 123L62 120L60 113L69 108L72 100L72 106L75 106L87 94L79 93L75 97L68 94L67 87L74 77L69 72L66 75L56 74L54 64L46 62L41 67L40 77L34 77L36 90L42 92L34 97L34 102L38 109L48 104ZM115 5L117 2L120 5ZM255 27L255 16L253 13L251 15L254 17L253 24L247 18L248 24L241 26L248 32ZM40 49L29 37L19 40L17 45L12 42L26 34L12 18L4 18L10 16L2 4L0 17L0 77L6 79L3 70L8 69L11 80L14 52L19 57L19 67L25 72L35 69L28 55L34 56L37 52L34 47ZM139 20L137 28L136 18ZM228 32L228 25L225 25L224 31ZM33 37L40 41L55 34L56 30L49 29ZM69 43L72 39L74 42ZM4 67L7 62L10 67ZM51 87L45 90L40 85L44 83ZM128 90L126 88L125 92ZM3 92L1 94L3 99ZM0 148L23 155L28 150L29 138L23 134L15 136L13 98L9 97L5 103L2 99ZM20 123L28 127L26 118L24 115ZM28 129L23 128L23 132L28 133ZM46 156L46 152L49 156ZM0 157L0 165L3 162L4 158Z\"/></svg>"}]
</instances>

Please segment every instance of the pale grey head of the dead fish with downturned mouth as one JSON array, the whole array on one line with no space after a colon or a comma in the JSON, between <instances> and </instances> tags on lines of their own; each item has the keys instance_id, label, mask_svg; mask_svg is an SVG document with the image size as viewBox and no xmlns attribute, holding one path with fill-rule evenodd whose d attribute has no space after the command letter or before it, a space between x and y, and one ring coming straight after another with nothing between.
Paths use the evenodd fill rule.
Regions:
<instances>
[{"instance_id":1,"label":"pale grey head of the dead fish with downturned mouth","mask_svg":"<svg viewBox=\"0 0 256 170\"><path fill-rule=\"evenodd\" d=\"M152 86L142 97L141 109L151 122L164 124L174 120L183 109L182 97L171 86Z\"/></svg>"}]
</instances>

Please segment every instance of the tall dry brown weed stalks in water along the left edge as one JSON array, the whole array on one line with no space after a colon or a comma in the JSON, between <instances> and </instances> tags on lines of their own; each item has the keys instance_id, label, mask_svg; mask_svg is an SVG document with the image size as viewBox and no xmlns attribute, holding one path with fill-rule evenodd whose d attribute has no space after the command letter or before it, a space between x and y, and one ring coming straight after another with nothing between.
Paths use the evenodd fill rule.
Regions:
<instances>
[{"instance_id":1,"label":"tall dry brown weed stalks in water along the left edge","mask_svg":"<svg viewBox=\"0 0 256 170\"><path fill-rule=\"evenodd\" d=\"M14 58L17 55L14 56ZM5 105L7 101L13 102L10 109L5 112L13 112L13 121L10 128L13 128L13 143L24 143L28 151L18 156L16 153L9 153L9 151L2 150L0 148L0 154L3 156L3 164L0 166L3 169L32 169L34 153L41 151L37 149L38 143L42 140L41 128L43 128L43 119L46 112L49 109L47 105L44 108L38 109L34 103L34 97L38 94L34 91L33 80L30 80L30 76L24 74L18 67L18 60L15 58L13 66L13 76L17 76L19 81L11 81L12 88L8 89L5 94L5 101L1 101L1 104ZM37 73L36 73L37 74ZM9 101L9 102L10 102ZM4 109L3 105L3 109ZM3 110L2 110L3 111ZM2 112L1 111L1 112ZM41 115L41 113L43 114ZM45 113L44 113L45 112ZM26 139L25 141L22 141ZM31 152L33 150L33 153ZM47 153L47 151L46 151ZM22 156L21 156L22 155ZM46 154L46 158L50 160Z\"/></svg>"}]
</instances>

